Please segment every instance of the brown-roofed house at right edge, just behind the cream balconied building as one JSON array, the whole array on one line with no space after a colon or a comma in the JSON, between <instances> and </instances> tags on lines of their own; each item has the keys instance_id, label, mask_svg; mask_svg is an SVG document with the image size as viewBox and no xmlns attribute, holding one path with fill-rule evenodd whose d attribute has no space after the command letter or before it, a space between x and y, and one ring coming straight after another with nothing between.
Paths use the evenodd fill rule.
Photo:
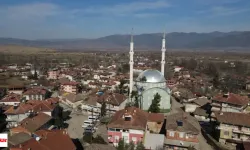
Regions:
<instances>
[{"instance_id":1,"label":"brown-roofed house at right edge, just behind the cream balconied building","mask_svg":"<svg viewBox=\"0 0 250 150\"><path fill-rule=\"evenodd\" d=\"M211 110L223 112L243 112L249 103L247 96L234 93L218 94L212 99ZM214 116L214 114L212 114Z\"/></svg>"}]
</instances>

